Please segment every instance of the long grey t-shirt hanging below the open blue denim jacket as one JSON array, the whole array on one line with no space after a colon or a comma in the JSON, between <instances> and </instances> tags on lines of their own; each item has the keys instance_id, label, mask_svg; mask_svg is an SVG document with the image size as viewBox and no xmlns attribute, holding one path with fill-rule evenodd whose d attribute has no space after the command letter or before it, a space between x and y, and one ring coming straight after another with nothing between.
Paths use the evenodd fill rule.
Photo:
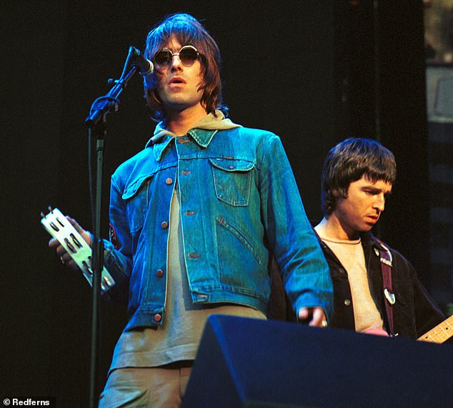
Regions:
<instances>
[{"instance_id":1,"label":"long grey t-shirt hanging below the open blue denim jacket","mask_svg":"<svg viewBox=\"0 0 453 408\"><path fill-rule=\"evenodd\" d=\"M171 200L165 320L158 330L143 328L121 333L110 369L158 367L195 359L209 315L266 319L259 310L236 304L194 305L184 262L177 183Z\"/></svg>"}]
</instances>

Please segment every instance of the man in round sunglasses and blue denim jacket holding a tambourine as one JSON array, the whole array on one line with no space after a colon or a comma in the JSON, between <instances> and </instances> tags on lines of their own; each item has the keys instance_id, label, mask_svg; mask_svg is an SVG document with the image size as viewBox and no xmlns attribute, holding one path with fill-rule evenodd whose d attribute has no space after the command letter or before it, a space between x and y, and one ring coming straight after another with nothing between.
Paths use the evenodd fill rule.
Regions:
<instances>
[{"instance_id":1,"label":"man in round sunglasses and blue denim jacket holding a tambourine","mask_svg":"<svg viewBox=\"0 0 453 408\"><path fill-rule=\"evenodd\" d=\"M129 292L129 320L101 407L178 406L207 317L266 318L272 257L299 320L325 326L332 312L327 263L282 143L225 117L214 39L175 14L149 33L145 55L160 122L111 178L104 259L111 297Z\"/></svg>"}]
</instances>

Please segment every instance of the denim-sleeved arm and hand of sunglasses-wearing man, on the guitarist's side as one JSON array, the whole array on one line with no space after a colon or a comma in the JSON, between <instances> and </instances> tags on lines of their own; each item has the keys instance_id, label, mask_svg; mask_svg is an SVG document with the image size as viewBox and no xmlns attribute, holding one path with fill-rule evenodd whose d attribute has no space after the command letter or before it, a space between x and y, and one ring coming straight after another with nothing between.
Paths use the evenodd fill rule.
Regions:
<instances>
[{"instance_id":1,"label":"denim-sleeved arm and hand of sunglasses-wearing man, on the guitarist's side","mask_svg":"<svg viewBox=\"0 0 453 408\"><path fill-rule=\"evenodd\" d=\"M333 308L329 267L277 136L267 145L260 173L262 217L285 292L299 320L311 317L310 325L326 325Z\"/></svg>"}]
</instances>

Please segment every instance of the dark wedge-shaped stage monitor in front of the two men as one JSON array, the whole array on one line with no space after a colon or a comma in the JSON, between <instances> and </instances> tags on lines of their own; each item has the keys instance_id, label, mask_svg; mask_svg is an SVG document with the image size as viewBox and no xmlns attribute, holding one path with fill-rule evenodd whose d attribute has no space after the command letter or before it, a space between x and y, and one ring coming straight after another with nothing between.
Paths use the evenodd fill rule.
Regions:
<instances>
[{"instance_id":1,"label":"dark wedge-shaped stage monitor in front of the two men","mask_svg":"<svg viewBox=\"0 0 453 408\"><path fill-rule=\"evenodd\" d=\"M451 407L453 348L213 315L184 408Z\"/></svg>"}]
</instances>

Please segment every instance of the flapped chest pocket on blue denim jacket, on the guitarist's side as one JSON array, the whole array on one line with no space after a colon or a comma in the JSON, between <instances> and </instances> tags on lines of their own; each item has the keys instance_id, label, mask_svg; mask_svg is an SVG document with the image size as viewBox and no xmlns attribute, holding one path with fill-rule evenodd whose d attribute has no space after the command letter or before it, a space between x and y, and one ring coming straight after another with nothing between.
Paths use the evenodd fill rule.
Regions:
<instances>
[{"instance_id":1,"label":"flapped chest pocket on blue denim jacket, on the guitarist's side","mask_svg":"<svg viewBox=\"0 0 453 408\"><path fill-rule=\"evenodd\" d=\"M210 158L214 188L219 200L229 205L249 205L254 163L235 158Z\"/></svg>"}]
</instances>

